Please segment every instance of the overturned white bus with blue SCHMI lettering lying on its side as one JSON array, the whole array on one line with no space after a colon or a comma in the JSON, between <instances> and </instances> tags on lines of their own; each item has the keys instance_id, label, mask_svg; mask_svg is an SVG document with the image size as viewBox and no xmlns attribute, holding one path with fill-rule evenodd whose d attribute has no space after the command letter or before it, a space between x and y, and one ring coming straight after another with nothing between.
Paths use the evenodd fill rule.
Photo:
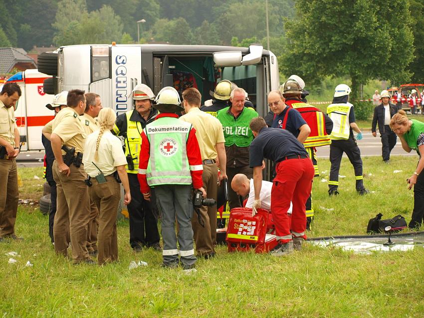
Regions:
<instances>
[{"instance_id":1,"label":"overturned white bus with blue SCHMI lettering lying on its side","mask_svg":"<svg viewBox=\"0 0 424 318\"><path fill-rule=\"evenodd\" d=\"M260 116L267 93L278 89L276 56L261 45L249 47L168 44L82 44L38 55L38 69L52 77L45 90L57 94L82 89L101 96L117 114L133 108L131 92L140 83L157 94L165 86L180 93L196 87L204 102L216 83L227 79L244 88Z\"/></svg>"}]
</instances>

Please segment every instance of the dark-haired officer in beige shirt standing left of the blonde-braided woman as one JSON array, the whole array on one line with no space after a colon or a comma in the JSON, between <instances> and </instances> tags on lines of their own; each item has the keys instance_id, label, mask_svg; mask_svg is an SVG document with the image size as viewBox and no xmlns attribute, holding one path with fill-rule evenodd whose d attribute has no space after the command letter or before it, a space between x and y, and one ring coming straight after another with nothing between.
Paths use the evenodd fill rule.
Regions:
<instances>
[{"instance_id":1,"label":"dark-haired officer in beige shirt standing left of the blonde-braided woman","mask_svg":"<svg viewBox=\"0 0 424 318\"><path fill-rule=\"evenodd\" d=\"M57 211L54 217L54 250L57 254L67 256L68 242L72 243L74 264L96 264L87 251L87 224L90 218L90 199L84 182L87 174L83 165L73 158L68 166L63 161L65 146L75 148L75 154L84 152L87 134L80 115L85 110L84 91L73 89L68 92L66 108L59 111L53 122L51 147L55 160L53 178L57 185ZM69 232L67 229L69 228Z\"/></svg>"}]
</instances>

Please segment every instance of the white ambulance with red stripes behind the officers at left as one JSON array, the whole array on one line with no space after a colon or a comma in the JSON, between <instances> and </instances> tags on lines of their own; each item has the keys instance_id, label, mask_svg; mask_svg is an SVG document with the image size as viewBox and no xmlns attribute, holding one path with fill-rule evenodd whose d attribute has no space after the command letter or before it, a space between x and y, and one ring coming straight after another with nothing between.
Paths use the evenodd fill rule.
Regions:
<instances>
[{"instance_id":1,"label":"white ambulance with red stripes behind the officers at left","mask_svg":"<svg viewBox=\"0 0 424 318\"><path fill-rule=\"evenodd\" d=\"M43 82L48 78L51 75L40 73L37 69L27 69L6 81L18 84L22 92L15 105L21 151L44 150L41 130L54 117L54 112L45 107L53 100L53 95L44 92Z\"/></svg>"}]
</instances>

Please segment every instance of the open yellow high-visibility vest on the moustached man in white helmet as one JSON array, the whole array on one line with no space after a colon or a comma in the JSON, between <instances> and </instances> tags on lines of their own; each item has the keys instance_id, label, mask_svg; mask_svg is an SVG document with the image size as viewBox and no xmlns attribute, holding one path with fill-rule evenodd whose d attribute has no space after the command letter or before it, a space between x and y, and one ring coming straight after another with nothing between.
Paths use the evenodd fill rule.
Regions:
<instances>
[{"instance_id":1,"label":"open yellow high-visibility vest on the moustached man in white helmet","mask_svg":"<svg viewBox=\"0 0 424 318\"><path fill-rule=\"evenodd\" d=\"M127 111L125 116L127 118L127 138L124 139L125 143L125 156L129 155L131 152L131 157L133 158L134 170L128 170L128 173L137 173L139 156L140 156L140 147L141 147L141 133L143 128L141 123L138 121L131 121L130 117L133 113L133 110Z\"/></svg>"}]
</instances>

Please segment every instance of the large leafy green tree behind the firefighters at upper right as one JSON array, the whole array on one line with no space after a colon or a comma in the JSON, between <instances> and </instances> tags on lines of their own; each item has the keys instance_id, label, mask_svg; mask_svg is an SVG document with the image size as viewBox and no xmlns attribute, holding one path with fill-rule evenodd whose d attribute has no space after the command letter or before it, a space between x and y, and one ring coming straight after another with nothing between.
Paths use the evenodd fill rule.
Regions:
<instances>
[{"instance_id":1,"label":"large leafy green tree behind the firefighters at upper right","mask_svg":"<svg viewBox=\"0 0 424 318\"><path fill-rule=\"evenodd\" d=\"M413 59L407 0L297 0L285 23L287 50L280 65L307 83L349 76L353 97L370 79L405 81ZM390 65L390 66L389 66Z\"/></svg>"}]
</instances>

